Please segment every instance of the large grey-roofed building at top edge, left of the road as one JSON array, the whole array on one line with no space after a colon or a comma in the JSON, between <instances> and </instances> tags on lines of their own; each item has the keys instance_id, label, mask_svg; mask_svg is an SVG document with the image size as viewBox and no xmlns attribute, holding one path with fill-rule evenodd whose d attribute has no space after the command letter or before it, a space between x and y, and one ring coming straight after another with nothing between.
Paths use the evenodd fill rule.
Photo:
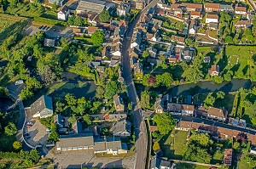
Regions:
<instances>
[{"instance_id":1,"label":"large grey-roofed building at top edge, left of the road","mask_svg":"<svg viewBox=\"0 0 256 169\"><path fill-rule=\"evenodd\" d=\"M101 0L80 0L79 5L76 8L76 14L100 14L104 8L111 12L114 7L115 5L113 3Z\"/></svg>"}]
</instances>

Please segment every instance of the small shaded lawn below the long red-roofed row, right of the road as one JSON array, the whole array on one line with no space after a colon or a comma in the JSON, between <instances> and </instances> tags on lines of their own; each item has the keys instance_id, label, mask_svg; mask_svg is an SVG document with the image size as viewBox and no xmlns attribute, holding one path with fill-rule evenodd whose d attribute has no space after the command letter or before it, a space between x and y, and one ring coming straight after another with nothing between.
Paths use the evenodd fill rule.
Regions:
<instances>
[{"instance_id":1,"label":"small shaded lawn below the long red-roofed row, right of the road","mask_svg":"<svg viewBox=\"0 0 256 169\"><path fill-rule=\"evenodd\" d=\"M174 138L172 138L172 134ZM181 160L186 149L185 144L188 132L173 130L172 134L166 135L160 140L160 147L164 152L164 156Z\"/></svg>"}]
</instances>

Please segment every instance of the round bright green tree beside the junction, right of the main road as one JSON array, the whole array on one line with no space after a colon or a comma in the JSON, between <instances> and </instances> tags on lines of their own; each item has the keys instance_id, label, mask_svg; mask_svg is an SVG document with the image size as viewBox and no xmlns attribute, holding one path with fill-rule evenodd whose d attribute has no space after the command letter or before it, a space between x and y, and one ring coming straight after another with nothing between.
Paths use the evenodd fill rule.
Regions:
<instances>
[{"instance_id":1,"label":"round bright green tree beside the junction, right of the main road","mask_svg":"<svg viewBox=\"0 0 256 169\"><path fill-rule=\"evenodd\" d=\"M156 122L157 128L162 135L171 132L175 125L175 119L173 119L171 113L154 115L153 120Z\"/></svg>"}]
</instances>

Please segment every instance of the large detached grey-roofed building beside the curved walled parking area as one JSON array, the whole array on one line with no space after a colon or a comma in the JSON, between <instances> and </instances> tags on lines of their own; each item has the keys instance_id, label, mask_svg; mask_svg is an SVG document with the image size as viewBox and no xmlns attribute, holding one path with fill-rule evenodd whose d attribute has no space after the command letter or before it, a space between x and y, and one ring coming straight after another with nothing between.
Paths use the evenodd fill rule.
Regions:
<instances>
[{"instance_id":1,"label":"large detached grey-roofed building beside the curved walled parking area","mask_svg":"<svg viewBox=\"0 0 256 169\"><path fill-rule=\"evenodd\" d=\"M53 115L52 99L49 96L43 95L26 109L31 111L33 118L49 117Z\"/></svg>"}]
</instances>

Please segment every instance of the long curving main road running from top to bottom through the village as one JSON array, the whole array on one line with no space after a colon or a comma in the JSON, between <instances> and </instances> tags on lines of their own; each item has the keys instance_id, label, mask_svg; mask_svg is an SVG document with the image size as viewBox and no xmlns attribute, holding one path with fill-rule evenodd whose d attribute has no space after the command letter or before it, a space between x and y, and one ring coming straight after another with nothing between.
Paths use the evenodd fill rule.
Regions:
<instances>
[{"instance_id":1,"label":"long curving main road running from top to bottom through the village","mask_svg":"<svg viewBox=\"0 0 256 169\"><path fill-rule=\"evenodd\" d=\"M157 0L153 0L148 4L146 8L138 14L137 19L134 20L126 32L126 38L124 42L124 50L123 50L123 58L122 58L122 66L123 66L123 77L125 79L125 85L127 88L127 92L129 98L132 102L133 112L134 112L134 127L136 128L135 133L137 136L137 158L134 168L135 169L144 169L146 167L146 158L147 158L147 129L146 124L143 121L142 110L139 105L139 100L137 97L137 91L134 86L134 83L131 78L131 66L130 66L130 57L129 57L129 48L131 46L131 37L133 33L133 29L142 14L145 14L148 11L148 8L154 7L157 3Z\"/></svg>"}]
</instances>

